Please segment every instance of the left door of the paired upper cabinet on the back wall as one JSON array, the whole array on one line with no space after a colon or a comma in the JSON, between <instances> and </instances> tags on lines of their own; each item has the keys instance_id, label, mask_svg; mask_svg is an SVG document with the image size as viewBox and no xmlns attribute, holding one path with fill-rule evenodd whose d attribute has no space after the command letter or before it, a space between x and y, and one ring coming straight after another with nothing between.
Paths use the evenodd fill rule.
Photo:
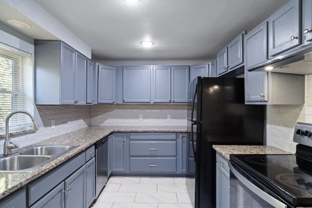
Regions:
<instances>
[{"instance_id":1,"label":"left door of the paired upper cabinet on the back wall","mask_svg":"<svg viewBox=\"0 0 312 208\"><path fill-rule=\"evenodd\" d=\"M171 68L153 67L153 102L170 103L171 102Z\"/></svg>"}]
</instances>

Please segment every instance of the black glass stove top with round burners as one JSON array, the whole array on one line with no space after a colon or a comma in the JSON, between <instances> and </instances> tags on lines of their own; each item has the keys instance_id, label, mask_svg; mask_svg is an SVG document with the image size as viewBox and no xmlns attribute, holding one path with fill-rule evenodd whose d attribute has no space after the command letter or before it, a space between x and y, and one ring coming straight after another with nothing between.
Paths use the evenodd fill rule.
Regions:
<instances>
[{"instance_id":1,"label":"black glass stove top with round burners","mask_svg":"<svg viewBox=\"0 0 312 208\"><path fill-rule=\"evenodd\" d=\"M234 154L230 160L292 205L312 204L312 161L295 154Z\"/></svg>"}]
</instances>

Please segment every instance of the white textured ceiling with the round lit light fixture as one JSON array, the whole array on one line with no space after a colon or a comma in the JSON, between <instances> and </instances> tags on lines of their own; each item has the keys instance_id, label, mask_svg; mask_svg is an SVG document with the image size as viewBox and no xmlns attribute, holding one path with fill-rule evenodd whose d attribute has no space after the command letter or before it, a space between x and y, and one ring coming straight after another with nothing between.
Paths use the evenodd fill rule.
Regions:
<instances>
[{"instance_id":1,"label":"white textured ceiling with the round lit light fixture","mask_svg":"<svg viewBox=\"0 0 312 208\"><path fill-rule=\"evenodd\" d=\"M288 0L34 1L87 43L98 61L211 60L240 32L250 31ZM6 19L12 19L7 16L15 13L0 14L0 21L7 24ZM53 38L33 27L26 35ZM155 44L147 49L142 40Z\"/></svg>"}]
</instances>

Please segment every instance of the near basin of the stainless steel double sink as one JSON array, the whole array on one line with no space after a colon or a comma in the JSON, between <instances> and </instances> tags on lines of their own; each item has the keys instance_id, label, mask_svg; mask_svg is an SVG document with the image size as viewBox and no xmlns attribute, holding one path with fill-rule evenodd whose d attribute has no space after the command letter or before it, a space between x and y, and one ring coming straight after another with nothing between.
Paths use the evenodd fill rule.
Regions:
<instances>
[{"instance_id":1,"label":"near basin of the stainless steel double sink","mask_svg":"<svg viewBox=\"0 0 312 208\"><path fill-rule=\"evenodd\" d=\"M0 171L30 171L51 159L51 156L16 155L0 158Z\"/></svg>"}]
</instances>

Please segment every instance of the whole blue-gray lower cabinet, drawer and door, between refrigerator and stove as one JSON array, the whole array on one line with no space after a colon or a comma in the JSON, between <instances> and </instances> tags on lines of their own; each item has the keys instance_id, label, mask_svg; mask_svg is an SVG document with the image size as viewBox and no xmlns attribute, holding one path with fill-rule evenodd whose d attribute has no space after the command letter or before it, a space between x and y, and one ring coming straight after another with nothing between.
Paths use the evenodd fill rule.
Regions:
<instances>
[{"instance_id":1,"label":"whole blue-gray lower cabinet, drawer and door, between refrigerator and stove","mask_svg":"<svg viewBox=\"0 0 312 208\"><path fill-rule=\"evenodd\" d=\"M230 208L230 168L228 160L216 153L216 208Z\"/></svg>"}]
</instances>

